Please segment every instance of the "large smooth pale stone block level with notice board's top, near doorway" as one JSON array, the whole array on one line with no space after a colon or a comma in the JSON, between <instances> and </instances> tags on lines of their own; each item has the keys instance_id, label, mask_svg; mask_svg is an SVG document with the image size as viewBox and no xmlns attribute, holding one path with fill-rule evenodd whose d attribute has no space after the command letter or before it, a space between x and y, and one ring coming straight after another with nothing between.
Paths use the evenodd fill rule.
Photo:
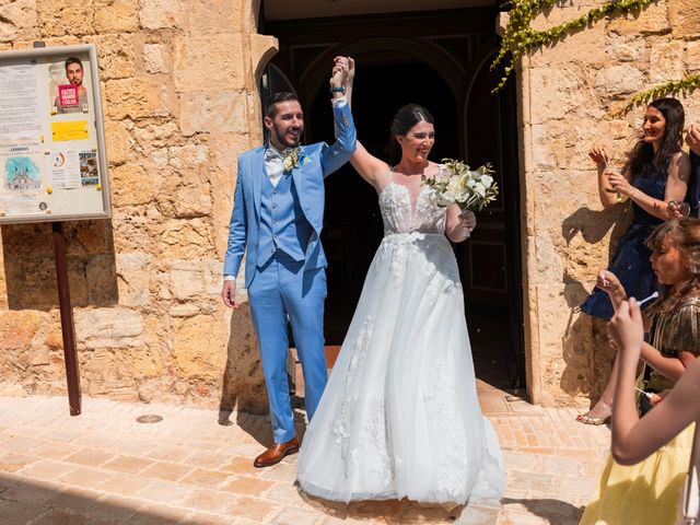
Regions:
<instances>
[{"instance_id":1,"label":"large smooth pale stone block level with notice board's top, near doorway","mask_svg":"<svg viewBox=\"0 0 700 525\"><path fill-rule=\"evenodd\" d=\"M176 37L174 80L178 93L241 90L246 85L242 35ZM206 79L206 82L202 82Z\"/></svg>"}]
</instances>

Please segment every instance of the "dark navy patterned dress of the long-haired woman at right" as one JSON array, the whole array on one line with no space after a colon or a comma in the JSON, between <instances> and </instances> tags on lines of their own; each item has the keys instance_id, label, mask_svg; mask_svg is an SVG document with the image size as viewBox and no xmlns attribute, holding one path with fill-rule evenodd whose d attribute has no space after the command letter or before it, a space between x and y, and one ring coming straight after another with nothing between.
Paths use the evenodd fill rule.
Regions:
<instances>
[{"instance_id":1,"label":"dark navy patterned dress of the long-haired woman at right","mask_svg":"<svg viewBox=\"0 0 700 525\"><path fill-rule=\"evenodd\" d=\"M662 167L653 171L650 175L635 177L632 180L632 186L650 197L663 201L666 195L668 161L663 162ZM656 276L649 260L652 252L645 243L646 237L664 221L648 213L634 202L632 202L632 211L634 213L632 223L620 238L608 270L620 280L628 298L642 300L658 289ZM607 292L599 288L594 289L593 293L588 295L588 299L581 305L581 311L602 319L609 319L615 313Z\"/></svg>"}]
</instances>

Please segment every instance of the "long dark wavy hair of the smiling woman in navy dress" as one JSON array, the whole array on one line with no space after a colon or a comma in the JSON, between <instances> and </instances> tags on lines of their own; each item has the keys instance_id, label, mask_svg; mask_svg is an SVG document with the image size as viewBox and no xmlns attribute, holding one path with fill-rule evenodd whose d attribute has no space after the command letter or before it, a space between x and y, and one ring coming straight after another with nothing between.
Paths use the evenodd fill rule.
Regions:
<instances>
[{"instance_id":1,"label":"long dark wavy hair of the smiling woman in navy dress","mask_svg":"<svg viewBox=\"0 0 700 525\"><path fill-rule=\"evenodd\" d=\"M686 120L686 113L682 104L676 98L656 98L649 106L661 112L666 119L666 129L661 141L661 148L654 155L654 147L640 139L632 151L627 155L625 171L630 170L632 178L652 175L656 170L664 166L664 163L682 148L682 127Z\"/></svg>"}]
</instances>

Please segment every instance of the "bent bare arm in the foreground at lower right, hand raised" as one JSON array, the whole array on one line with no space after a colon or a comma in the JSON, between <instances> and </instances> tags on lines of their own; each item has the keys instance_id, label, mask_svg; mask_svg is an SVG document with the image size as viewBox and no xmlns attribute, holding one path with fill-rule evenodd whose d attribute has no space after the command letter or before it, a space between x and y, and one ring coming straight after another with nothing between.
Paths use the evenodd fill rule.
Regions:
<instances>
[{"instance_id":1,"label":"bent bare arm in the foreground at lower right, hand raised","mask_svg":"<svg viewBox=\"0 0 700 525\"><path fill-rule=\"evenodd\" d=\"M657 407L640 419L634 398L634 375L643 341L642 316L637 301L625 301L609 325L619 353L612 409L612 457L633 465L668 443L700 417L700 361L696 361Z\"/></svg>"}]
</instances>

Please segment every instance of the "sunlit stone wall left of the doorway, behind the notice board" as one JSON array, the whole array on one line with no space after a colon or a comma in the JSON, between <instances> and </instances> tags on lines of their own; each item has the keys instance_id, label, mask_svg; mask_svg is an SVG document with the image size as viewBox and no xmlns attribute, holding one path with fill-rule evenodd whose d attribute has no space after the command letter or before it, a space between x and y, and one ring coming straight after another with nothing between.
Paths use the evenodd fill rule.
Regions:
<instances>
[{"instance_id":1,"label":"sunlit stone wall left of the doorway, behind the notice board","mask_svg":"<svg viewBox=\"0 0 700 525\"><path fill-rule=\"evenodd\" d=\"M220 300L236 154L275 52L250 0L18 0L2 49L97 45L113 218L66 224L83 392L265 410L249 312ZM0 394L66 389L51 228L2 226ZM240 287L242 288L242 287Z\"/></svg>"}]
</instances>

